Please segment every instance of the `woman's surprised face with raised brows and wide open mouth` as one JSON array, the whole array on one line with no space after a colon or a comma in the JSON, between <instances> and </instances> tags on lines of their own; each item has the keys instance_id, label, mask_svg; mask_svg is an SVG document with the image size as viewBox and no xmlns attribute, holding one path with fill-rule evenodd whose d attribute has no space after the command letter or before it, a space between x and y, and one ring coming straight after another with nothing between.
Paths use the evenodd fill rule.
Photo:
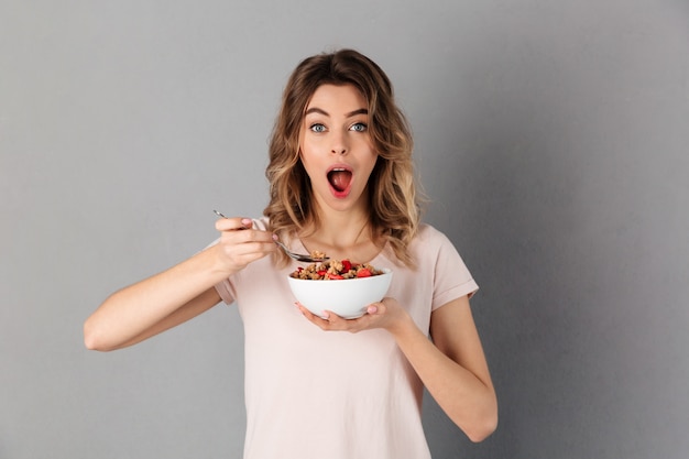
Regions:
<instances>
[{"instance_id":1,"label":"woman's surprised face with raised brows and wide open mouth","mask_svg":"<svg viewBox=\"0 0 689 459\"><path fill-rule=\"evenodd\" d=\"M300 159L317 203L337 210L365 206L378 153L369 134L368 105L350 85L322 85L306 106Z\"/></svg>"}]
</instances>

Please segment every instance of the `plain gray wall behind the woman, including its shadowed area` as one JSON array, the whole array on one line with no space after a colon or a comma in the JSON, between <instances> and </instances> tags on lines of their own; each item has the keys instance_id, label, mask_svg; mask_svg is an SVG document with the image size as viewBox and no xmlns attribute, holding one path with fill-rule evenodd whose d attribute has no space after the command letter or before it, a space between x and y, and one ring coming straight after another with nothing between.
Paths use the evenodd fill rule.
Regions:
<instances>
[{"instance_id":1,"label":"plain gray wall behind the woman, including its shadowed area","mask_svg":"<svg viewBox=\"0 0 689 459\"><path fill-rule=\"evenodd\" d=\"M240 456L232 307L86 351L112 291L258 216L285 79L393 79L500 397L436 458L689 450L689 9L680 1L0 1L0 458ZM288 394L286 394L288 395Z\"/></svg>"}]
</instances>

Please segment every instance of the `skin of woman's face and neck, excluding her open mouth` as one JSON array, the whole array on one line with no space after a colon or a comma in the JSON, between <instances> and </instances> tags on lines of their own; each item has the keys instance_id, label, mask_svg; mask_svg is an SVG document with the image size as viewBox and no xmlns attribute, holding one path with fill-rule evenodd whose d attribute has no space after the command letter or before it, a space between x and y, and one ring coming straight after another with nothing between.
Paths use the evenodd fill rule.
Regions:
<instances>
[{"instance_id":1,"label":"skin of woman's face and neck, excluding her open mouth","mask_svg":"<svg viewBox=\"0 0 689 459\"><path fill-rule=\"evenodd\" d=\"M368 132L365 99L351 86L322 85L311 96L299 133L300 159L310 181L321 226L307 228L302 242L333 258L370 260L379 247L370 232L368 182L378 153ZM328 182L332 167L350 170L344 193ZM363 236L363 238L362 238Z\"/></svg>"}]
</instances>

